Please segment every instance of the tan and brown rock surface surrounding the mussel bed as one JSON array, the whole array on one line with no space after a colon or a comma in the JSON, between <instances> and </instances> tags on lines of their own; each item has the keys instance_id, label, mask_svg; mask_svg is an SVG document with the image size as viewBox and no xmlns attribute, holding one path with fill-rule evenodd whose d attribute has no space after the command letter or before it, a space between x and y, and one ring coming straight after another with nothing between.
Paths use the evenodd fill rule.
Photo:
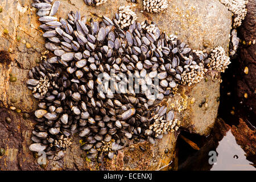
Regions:
<instances>
[{"instance_id":1,"label":"tan and brown rock surface surrounding the mussel bed","mask_svg":"<svg viewBox=\"0 0 256 182\"><path fill-rule=\"evenodd\" d=\"M22 112L31 113L31 119L23 119L21 113L15 113L8 109L0 110L0 147L5 148L6 154L0 156L1 170L156 170L166 166L175 158L175 146L177 133L164 135L163 139L153 144L147 142L134 144L121 151L113 160L106 160L102 164L90 162L86 154L80 148L79 137L74 136L73 145L69 147L63 159L59 161L48 160L47 166L40 168L33 158L28 146L32 143L31 134L34 125L34 110L37 101L31 96L31 90L26 87L28 70L36 65L35 60L44 51L44 39L42 31L38 30L40 22L35 15L36 10L31 7L32 0L15 0L13 3L0 0L2 13L0 13L0 46L3 50L12 49L10 56L13 61L10 64L0 63L0 106L15 106ZM82 15L94 19L102 15L113 17L121 5L133 5L126 0L108 1L99 7L86 6L82 0L61 0L60 11L57 17L65 15L71 10L80 10ZM135 7L131 7L138 20L154 20L162 31L175 34L183 42L187 42L192 49L212 49L222 46L228 51L229 32L232 24L231 13L217 0L204 0L198 3L196 0L170 2L170 7L162 14L141 13L142 2L138 1ZM9 33L3 34L6 28ZM17 40L20 36L21 40ZM23 40L31 44L27 48ZM0 55L1 56L1 55ZM9 81L9 74L17 78L16 82ZM218 80L201 81L191 88L181 86L173 98L168 98L168 108L171 103L186 104L188 109L175 112L182 122L182 129L208 135L210 128L217 117L220 84ZM185 96L188 95L188 98ZM195 103L190 104L195 98ZM199 107L201 100L206 98L208 109L205 105ZM10 117L11 123L5 122ZM164 152L167 151L167 152Z\"/></svg>"}]
</instances>

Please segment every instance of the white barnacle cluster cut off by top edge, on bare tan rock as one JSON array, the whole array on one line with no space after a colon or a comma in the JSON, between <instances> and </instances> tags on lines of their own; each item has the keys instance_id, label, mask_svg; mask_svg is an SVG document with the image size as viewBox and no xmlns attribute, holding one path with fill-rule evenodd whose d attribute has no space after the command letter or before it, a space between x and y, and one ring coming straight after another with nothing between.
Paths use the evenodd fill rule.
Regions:
<instances>
[{"instance_id":1,"label":"white barnacle cluster cut off by top edge, on bare tan rock","mask_svg":"<svg viewBox=\"0 0 256 182\"><path fill-rule=\"evenodd\" d=\"M150 13L159 13L168 7L167 0L143 0L144 10Z\"/></svg>"}]
</instances>

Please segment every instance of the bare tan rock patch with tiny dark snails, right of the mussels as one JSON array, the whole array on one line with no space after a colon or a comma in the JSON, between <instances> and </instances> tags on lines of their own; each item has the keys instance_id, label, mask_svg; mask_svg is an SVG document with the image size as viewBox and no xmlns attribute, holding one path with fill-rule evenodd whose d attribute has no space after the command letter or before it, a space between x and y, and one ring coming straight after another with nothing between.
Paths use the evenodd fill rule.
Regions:
<instances>
[{"instance_id":1,"label":"bare tan rock patch with tiny dark snails, right of the mussels","mask_svg":"<svg viewBox=\"0 0 256 182\"><path fill-rule=\"evenodd\" d=\"M195 103L188 102L188 109L181 113L181 125L191 133L209 135L218 114L217 98L220 97L220 83L207 76L204 80L189 88L186 92L188 101L195 98ZM206 107L206 105L208 105Z\"/></svg>"}]
</instances>

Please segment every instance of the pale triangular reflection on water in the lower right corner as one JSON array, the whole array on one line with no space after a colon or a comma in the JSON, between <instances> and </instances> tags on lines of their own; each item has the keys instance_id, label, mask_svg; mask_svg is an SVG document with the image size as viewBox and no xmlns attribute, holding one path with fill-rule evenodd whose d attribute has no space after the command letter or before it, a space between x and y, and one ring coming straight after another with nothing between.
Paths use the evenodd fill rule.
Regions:
<instances>
[{"instance_id":1,"label":"pale triangular reflection on water in the lower right corner","mask_svg":"<svg viewBox=\"0 0 256 182\"><path fill-rule=\"evenodd\" d=\"M237 144L236 138L229 130L226 136L218 143L216 148L218 153L217 161L210 171L216 170L250 170L256 171L256 168L246 159L245 151Z\"/></svg>"}]
</instances>

